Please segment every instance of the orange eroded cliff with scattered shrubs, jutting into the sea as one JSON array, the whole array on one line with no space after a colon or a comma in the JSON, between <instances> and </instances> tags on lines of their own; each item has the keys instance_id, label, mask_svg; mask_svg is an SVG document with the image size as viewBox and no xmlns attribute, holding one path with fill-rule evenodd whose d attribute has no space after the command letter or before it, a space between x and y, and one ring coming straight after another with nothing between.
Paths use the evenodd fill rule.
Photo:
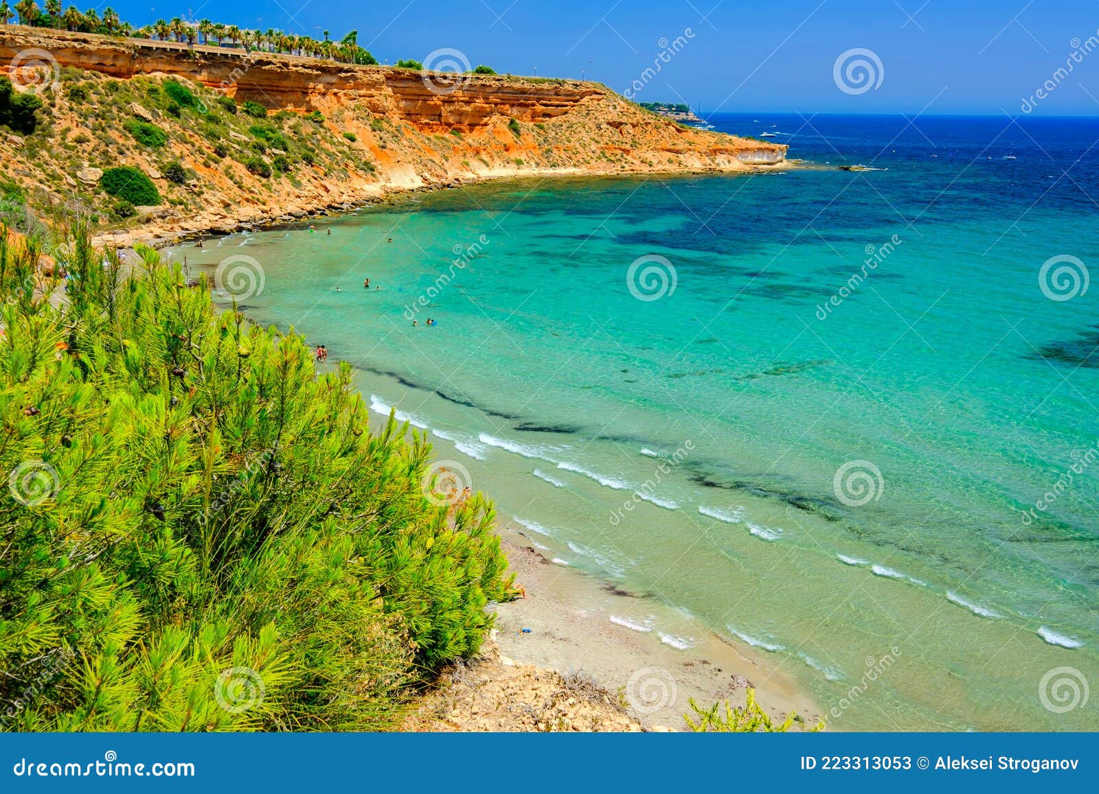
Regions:
<instances>
[{"instance_id":1,"label":"orange eroded cliff with scattered shrubs, jutting into the sea","mask_svg":"<svg viewBox=\"0 0 1099 794\"><path fill-rule=\"evenodd\" d=\"M774 167L786 156L785 146L684 127L576 80L445 76L0 26L0 70L16 83L31 81L31 72L12 69L31 49L48 53L60 79L43 94L48 118L38 132L0 134L7 177L29 187L37 180L52 198L90 199L95 180L78 171L134 165L157 180L169 208L129 225L144 221L169 234L298 216L395 189L523 175L741 171ZM168 77L191 85L208 112L163 112L149 85ZM73 100L70 85L89 89L87 101ZM265 123L295 143L281 153L290 171L269 178L237 167L257 147L267 159L279 150L258 146L254 120L222 113L219 96L258 102L274 114ZM322 123L306 121L312 111ZM135 145L122 131L134 116L164 128L167 147ZM68 156L43 163L49 149ZM165 182L166 160L181 163L199 183Z\"/></svg>"}]
</instances>

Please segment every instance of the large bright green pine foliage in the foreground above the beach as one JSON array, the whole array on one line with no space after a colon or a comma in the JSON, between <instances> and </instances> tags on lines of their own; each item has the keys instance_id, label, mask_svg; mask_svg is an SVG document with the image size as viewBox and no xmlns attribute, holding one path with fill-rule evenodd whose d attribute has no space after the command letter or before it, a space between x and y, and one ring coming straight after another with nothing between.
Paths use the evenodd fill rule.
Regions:
<instances>
[{"instance_id":1,"label":"large bright green pine foliage in the foreground above the beach","mask_svg":"<svg viewBox=\"0 0 1099 794\"><path fill-rule=\"evenodd\" d=\"M0 728L387 727L478 648L492 507L431 499L348 367L84 227L58 300L41 249L0 234Z\"/></svg>"}]
</instances>

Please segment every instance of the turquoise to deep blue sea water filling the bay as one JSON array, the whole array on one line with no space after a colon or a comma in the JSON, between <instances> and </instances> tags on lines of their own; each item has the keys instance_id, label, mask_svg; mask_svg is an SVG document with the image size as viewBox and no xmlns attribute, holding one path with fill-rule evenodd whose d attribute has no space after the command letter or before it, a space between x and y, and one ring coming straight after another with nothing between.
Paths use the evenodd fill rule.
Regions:
<instances>
[{"instance_id":1,"label":"turquoise to deep blue sea water filling the bay","mask_svg":"<svg viewBox=\"0 0 1099 794\"><path fill-rule=\"evenodd\" d=\"M1066 673L1040 696L1099 682L1099 123L755 119L714 123L882 170L498 182L178 253L253 258L251 316L675 610L620 617L685 660L714 630L844 729L1099 727L1046 707Z\"/></svg>"}]
</instances>

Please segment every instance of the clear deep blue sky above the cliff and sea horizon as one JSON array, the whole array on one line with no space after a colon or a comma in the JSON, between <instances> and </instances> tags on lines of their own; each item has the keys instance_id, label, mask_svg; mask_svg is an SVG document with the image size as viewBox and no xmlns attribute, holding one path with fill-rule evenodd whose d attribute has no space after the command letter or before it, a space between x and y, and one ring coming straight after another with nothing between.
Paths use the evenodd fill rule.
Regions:
<instances>
[{"instance_id":1,"label":"clear deep blue sky above the cliff and sea horizon","mask_svg":"<svg viewBox=\"0 0 1099 794\"><path fill-rule=\"evenodd\" d=\"M637 100L706 112L1018 113L1053 80L1035 113L1099 115L1099 46L1080 55L1089 37L1099 41L1099 0L158 2L113 5L135 24L209 18L318 38L354 27L381 61L453 47L498 71L586 71L618 91L632 87ZM863 58L876 88L837 87L833 67L851 49L880 63ZM1074 52L1079 63L1055 77Z\"/></svg>"}]
</instances>

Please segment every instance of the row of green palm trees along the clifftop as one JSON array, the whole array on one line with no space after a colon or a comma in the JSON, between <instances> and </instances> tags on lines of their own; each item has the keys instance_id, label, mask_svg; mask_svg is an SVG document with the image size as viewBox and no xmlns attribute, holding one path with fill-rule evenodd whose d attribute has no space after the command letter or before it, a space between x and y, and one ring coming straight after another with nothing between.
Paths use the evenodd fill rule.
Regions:
<instances>
[{"instance_id":1,"label":"row of green palm trees along the clifftop","mask_svg":"<svg viewBox=\"0 0 1099 794\"><path fill-rule=\"evenodd\" d=\"M370 53L358 46L357 31L351 31L338 42L332 41L329 32L324 31L324 41L321 42L310 36L298 36L270 27L266 31L247 30L210 20L188 21L179 16L170 21L157 20L151 25L134 29L129 22L122 22L119 14L110 7L103 9L100 15L96 9L80 11L76 5L69 5L63 12L62 0L44 0L43 5L44 10L40 9L34 0L20 0L11 7L8 0L0 0L0 24L8 24L13 16L18 16L19 24L33 27L55 27L79 33L123 35L162 42L186 42L188 46L195 44L234 48L243 46L248 52L285 53L364 66L378 63Z\"/></svg>"}]
</instances>

